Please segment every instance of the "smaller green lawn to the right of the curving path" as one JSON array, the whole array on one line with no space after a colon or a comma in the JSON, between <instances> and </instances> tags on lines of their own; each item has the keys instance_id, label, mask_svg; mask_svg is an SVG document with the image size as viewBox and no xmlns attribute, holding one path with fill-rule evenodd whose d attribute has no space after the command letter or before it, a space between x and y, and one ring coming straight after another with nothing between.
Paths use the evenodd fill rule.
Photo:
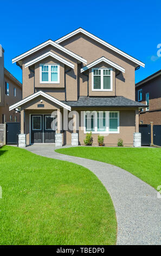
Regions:
<instances>
[{"instance_id":1,"label":"smaller green lawn to the right of the curving path","mask_svg":"<svg viewBox=\"0 0 161 256\"><path fill-rule=\"evenodd\" d=\"M136 175L154 188L161 185L160 148L76 147L58 149L56 152L111 163Z\"/></svg>"}]
</instances>

